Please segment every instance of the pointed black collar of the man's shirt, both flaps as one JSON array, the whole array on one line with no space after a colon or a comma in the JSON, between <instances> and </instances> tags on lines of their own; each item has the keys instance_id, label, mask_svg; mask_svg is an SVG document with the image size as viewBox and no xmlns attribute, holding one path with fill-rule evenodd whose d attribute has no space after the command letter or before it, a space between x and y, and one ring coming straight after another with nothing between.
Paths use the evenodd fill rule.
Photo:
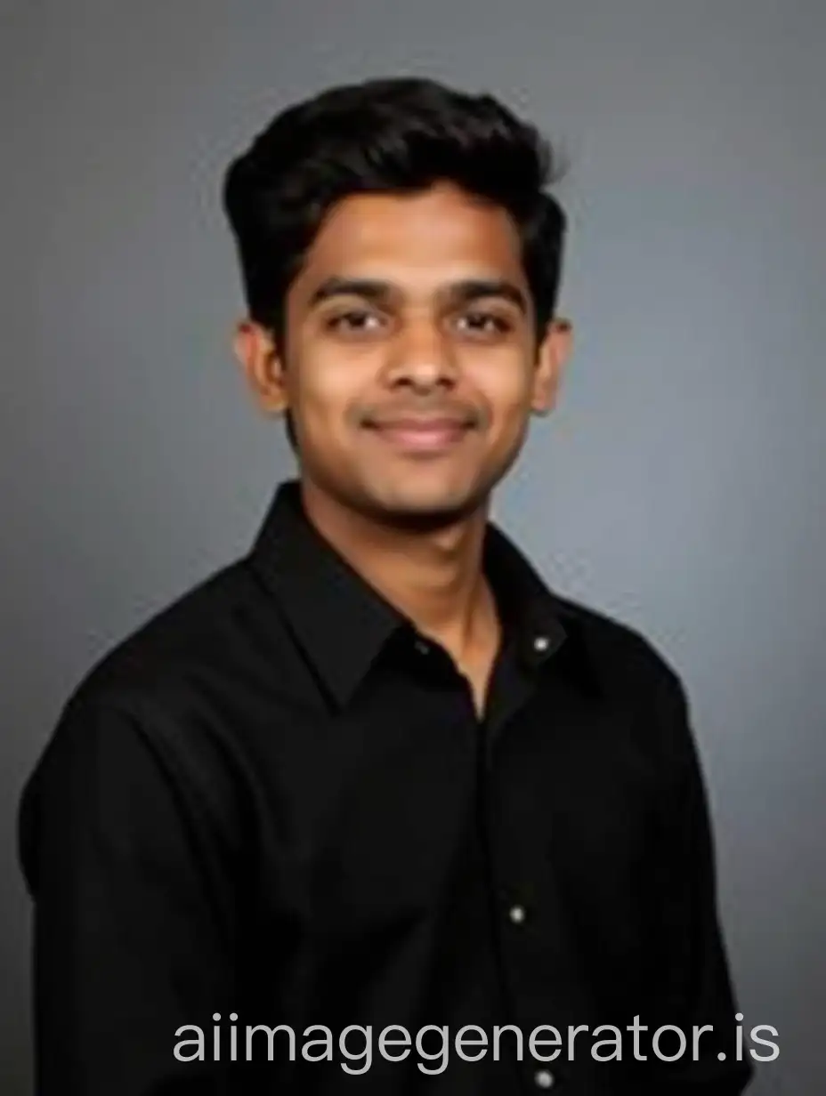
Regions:
<instances>
[{"instance_id":1,"label":"pointed black collar of the man's shirt, both flaps","mask_svg":"<svg viewBox=\"0 0 826 1096\"><path fill-rule=\"evenodd\" d=\"M294 636L341 706L395 633L412 628L416 637L409 618L308 520L296 479L278 486L248 559L278 597ZM485 570L521 658L529 666L543 663L566 638L556 598L493 522L486 530Z\"/></svg>"}]
</instances>

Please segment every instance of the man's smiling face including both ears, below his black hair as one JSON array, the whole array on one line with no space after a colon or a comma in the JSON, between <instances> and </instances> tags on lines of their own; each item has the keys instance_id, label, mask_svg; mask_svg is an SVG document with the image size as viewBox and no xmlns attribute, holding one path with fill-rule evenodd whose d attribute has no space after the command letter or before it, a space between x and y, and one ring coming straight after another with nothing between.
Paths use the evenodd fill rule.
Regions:
<instances>
[{"instance_id":1,"label":"man's smiling face including both ears, below his black hair","mask_svg":"<svg viewBox=\"0 0 826 1096\"><path fill-rule=\"evenodd\" d=\"M449 520L485 501L532 411L553 404L566 328L536 346L516 226L449 184L330 212L286 300L287 345L237 349L291 412L302 473L366 515Z\"/></svg>"}]
</instances>

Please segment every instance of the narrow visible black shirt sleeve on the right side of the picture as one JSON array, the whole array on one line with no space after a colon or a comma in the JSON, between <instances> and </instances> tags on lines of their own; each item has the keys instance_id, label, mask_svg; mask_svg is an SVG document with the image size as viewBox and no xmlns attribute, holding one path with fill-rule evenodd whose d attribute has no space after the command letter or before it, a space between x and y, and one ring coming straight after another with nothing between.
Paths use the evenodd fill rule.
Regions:
<instances>
[{"instance_id":1,"label":"narrow visible black shirt sleeve on the right side of the picture","mask_svg":"<svg viewBox=\"0 0 826 1096\"><path fill-rule=\"evenodd\" d=\"M670 669L660 684L656 719L669 754L663 789L657 1024L679 1026L687 1049L675 1062L656 1061L654 1088L657 1096L739 1096L754 1068L745 1024L737 1031L705 781L686 690ZM709 1030L694 1044L694 1030L703 1026ZM664 1054L671 1054L674 1046L664 1036Z\"/></svg>"}]
</instances>

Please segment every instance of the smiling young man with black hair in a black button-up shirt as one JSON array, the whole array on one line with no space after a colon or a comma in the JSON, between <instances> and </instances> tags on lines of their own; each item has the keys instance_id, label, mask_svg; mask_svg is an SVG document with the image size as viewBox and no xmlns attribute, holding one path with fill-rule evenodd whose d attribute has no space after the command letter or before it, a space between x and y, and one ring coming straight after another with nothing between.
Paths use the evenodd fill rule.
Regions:
<instances>
[{"instance_id":1,"label":"smiling young man with black hair in a black button-up shirt","mask_svg":"<svg viewBox=\"0 0 826 1096\"><path fill-rule=\"evenodd\" d=\"M568 353L551 172L416 79L231 165L235 350L299 476L25 789L43 1096L745 1087L682 686L489 518Z\"/></svg>"}]
</instances>

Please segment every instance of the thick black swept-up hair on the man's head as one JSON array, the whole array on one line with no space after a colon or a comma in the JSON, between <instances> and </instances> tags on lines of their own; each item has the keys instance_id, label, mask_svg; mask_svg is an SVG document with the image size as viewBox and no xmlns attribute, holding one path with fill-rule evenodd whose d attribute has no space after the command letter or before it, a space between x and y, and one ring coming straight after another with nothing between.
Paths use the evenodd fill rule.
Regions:
<instances>
[{"instance_id":1,"label":"thick black swept-up hair on the man's head","mask_svg":"<svg viewBox=\"0 0 826 1096\"><path fill-rule=\"evenodd\" d=\"M224 179L249 316L283 347L287 289L329 209L446 181L511 215L539 334L559 284L566 217L545 190L557 178L550 142L493 95L417 77L323 91L278 114Z\"/></svg>"}]
</instances>

